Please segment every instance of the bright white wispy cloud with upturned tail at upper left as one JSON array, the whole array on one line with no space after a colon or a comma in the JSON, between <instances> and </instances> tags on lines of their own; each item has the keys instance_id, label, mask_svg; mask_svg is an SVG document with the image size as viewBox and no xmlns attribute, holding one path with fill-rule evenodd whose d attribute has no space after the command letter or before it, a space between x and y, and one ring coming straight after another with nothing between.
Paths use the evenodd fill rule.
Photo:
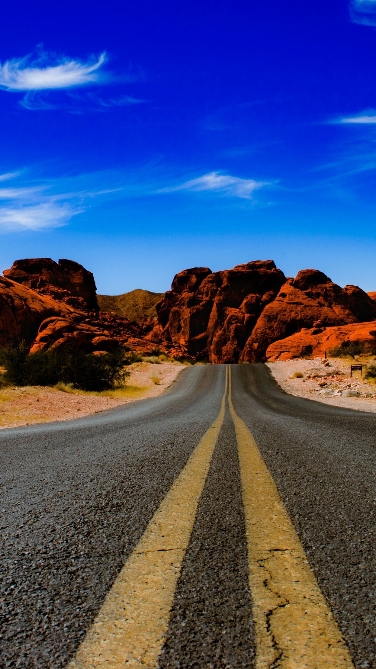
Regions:
<instances>
[{"instance_id":1,"label":"bright white wispy cloud with upturned tail at upper left","mask_svg":"<svg viewBox=\"0 0 376 669\"><path fill-rule=\"evenodd\" d=\"M50 66L41 66L40 58L39 61L31 62L30 56L7 60L0 64L0 87L9 91L25 92L94 84L100 78L98 70L105 60L105 53L100 54L94 62L62 58L60 62Z\"/></svg>"}]
</instances>

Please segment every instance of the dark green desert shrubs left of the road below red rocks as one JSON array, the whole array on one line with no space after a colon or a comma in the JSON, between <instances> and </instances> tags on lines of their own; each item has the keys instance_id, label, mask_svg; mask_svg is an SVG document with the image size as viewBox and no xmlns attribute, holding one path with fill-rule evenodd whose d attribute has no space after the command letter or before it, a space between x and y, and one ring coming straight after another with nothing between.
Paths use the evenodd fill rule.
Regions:
<instances>
[{"instance_id":1,"label":"dark green desert shrubs left of the road below red rocks","mask_svg":"<svg viewBox=\"0 0 376 669\"><path fill-rule=\"evenodd\" d=\"M4 381L9 385L64 383L81 390L102 391L122 385L129 376L124 370L125 355L120 347L102 355L75 347L28 353L21 341L3 347L0 362L5 368Z\"/></svg>"}]
</instances>

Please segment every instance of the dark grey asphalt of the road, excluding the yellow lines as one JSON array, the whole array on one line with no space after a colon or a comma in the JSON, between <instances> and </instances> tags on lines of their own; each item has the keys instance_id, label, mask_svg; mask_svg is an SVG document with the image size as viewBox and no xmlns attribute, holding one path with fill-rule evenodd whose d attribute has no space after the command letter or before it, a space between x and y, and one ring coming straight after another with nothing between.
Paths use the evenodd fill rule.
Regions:
<instances>
[{"instance_id":1,"label":"dark grey asphalt of the road, excluding the yellow lines","mask_svg":"<svg viewBox=\"0 0 376 669\"><path fill-rule=\"evenodd\" d=\"M376 415L286 395L264 365L231 365L231 379L355 667L376 667ZM157 399L0 432L1 667L74 657L224 388L225 366L190 367ZM253 667L255 654L226 401L159 667Z\"/></svg>"}]
</instances>

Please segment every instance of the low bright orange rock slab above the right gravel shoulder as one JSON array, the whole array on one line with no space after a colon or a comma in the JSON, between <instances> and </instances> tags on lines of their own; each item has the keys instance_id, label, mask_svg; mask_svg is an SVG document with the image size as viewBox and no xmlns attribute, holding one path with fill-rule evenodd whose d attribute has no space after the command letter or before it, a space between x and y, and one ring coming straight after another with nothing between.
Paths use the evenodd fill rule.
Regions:
<instances>
[{"instance_id":1,"label":"low bright orange rock slab above the right gravel shoulder","mask_svg":"<svg viewBox=\"0 0 376 669\"><path fill-rule=\"evenodd\" d=\"M340 345L343 341L365 341L374 343L376 336L376 322L351 323L339 327L318 328L310 330L302 328L291 337L280 339L270 344L266 351L268 361L290 360L298 357L324 357L329 349Z\"/></svg>"}]
</instances>

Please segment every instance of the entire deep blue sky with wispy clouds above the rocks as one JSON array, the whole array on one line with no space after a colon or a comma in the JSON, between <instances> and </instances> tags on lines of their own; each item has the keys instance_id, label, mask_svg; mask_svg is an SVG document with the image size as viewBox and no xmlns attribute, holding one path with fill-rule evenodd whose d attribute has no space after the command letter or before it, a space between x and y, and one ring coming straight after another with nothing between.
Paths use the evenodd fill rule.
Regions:
<instances>
[{"instance_id":1,"label":"entire deep blue sky with wispy clouds above the rocks","mask_svg":"<svg viewBox=\"0 0 376 669\"><path fill-rule=\"evenodd\" d=\"M2 9L0 268L273 258L376 290L376 0Z\"/></svg>"}]
</instances>

